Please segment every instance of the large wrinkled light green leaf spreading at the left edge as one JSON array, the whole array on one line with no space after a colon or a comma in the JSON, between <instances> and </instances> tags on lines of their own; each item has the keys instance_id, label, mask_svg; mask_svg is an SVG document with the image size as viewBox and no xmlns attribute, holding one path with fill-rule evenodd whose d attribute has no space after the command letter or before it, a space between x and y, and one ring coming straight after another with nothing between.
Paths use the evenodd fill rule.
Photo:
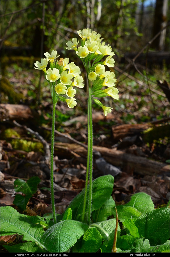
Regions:
<instances>
[{"instance_id":1,"label":"large wrinkled light green leaf spreading at the left edge","mask_svg":"<svg viewBox=\"0 0 170 257\"><path fill-rule=\"evenodd\" d=\"M31 220L35 222L35 217L20 214L11 206L1 207L1 236L17 233L23 235L23 241L38 242L41 247L45 248L41 241L43 228ZM40 219L37 218L37 223L39 222Z\"/></svg>"}]
</instances>

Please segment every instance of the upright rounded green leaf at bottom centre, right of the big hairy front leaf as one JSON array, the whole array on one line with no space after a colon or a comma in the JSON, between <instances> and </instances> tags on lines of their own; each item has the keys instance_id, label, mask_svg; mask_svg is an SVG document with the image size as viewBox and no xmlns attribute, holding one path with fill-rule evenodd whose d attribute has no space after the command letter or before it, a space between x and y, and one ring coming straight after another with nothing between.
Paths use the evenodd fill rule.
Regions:
<instances>
[{"instance_id":1,"label":"upright rounded green leaf at bottom centre, right of the big hairy front leaf","mask_svg":"<svg viewBox=\"0 0 170 257\"><path fill-rule=\"evenodd\" d=\"M102 245L102 236L95 227L88 228L83 236L85 253L96 253Z\"/></svg>"}]
</instances>

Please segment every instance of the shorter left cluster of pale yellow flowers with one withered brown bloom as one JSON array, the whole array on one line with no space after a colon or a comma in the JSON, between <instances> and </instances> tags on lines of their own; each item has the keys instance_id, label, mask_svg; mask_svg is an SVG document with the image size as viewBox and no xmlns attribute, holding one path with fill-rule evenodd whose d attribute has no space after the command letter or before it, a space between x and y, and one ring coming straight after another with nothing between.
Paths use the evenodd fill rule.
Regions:
<instances>
[{"instance_id":1,"label":"shorter left cluster of pale yellow flowers with one withered brown bloom","mask_svg":"<svg viewBox=\"0 0 170 257\"><path fill-rule=\"evenodd\" d=\"M66 102L69 108L73 108L77 104L74 98L76 94L74 87L84 87L83 78L79 75L81 73L79 67L74 62L69 63L68 58L60 58L58 62L54 63L54 60L59 57L59 55L57 56L57 51L53 50L51 55L46 52L44 55L46 58L41 59L41 63L35 62L36 68L34 67L34 69L44 71L45 78L50 84L53 102L59 98L61 101ZM47 70L48 61L50 61L50 68ZM69 99L61 96L64 94Z\"/></svg>"}]
</instances>

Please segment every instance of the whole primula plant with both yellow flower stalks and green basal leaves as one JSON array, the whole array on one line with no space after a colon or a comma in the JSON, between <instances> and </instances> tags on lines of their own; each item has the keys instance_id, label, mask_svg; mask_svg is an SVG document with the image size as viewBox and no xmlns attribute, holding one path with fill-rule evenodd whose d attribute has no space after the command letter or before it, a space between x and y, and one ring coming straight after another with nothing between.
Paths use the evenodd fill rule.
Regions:
<instances>
[{"instance_id":1,"label":"whole primula plant with both yellow flower stalks and green basal leaves","mask_svg":"<svg viewBox=\"0 0 170 257\"><path fill-rule=\"evenodd\" d=\"M167 207L154 209L153 201L145 193L137 193L129 203L115 206L111 196L114 177L101 176L92 181L93 170L93 126L92 100L99 105L106 116L111 107L104 106L97 98L110 96L118 99L115 75L106 71L114 66L112 48L101 43L100 34L90 29L78 31L79 41L73 38L66 43L68 50L75 50L82 60L88 79L88 151L86 186L70 203L62 215L55 213L53 189L53 148L55 108L58 99L69 108L76 105L75 87L84 87L80 69L69 59L58 57L56 51L36 62L35 69L43 70L50 84L53 100L51 134L51 202L52 214L27 216L12 207L1 207L1 235L23 235L23 243L4 247L9 252L169 252L169 202ZM107 56L108 55L108 56ZM105 57L107 56L107 57ZM104 60L102 60L104 59ZM50 61L50 68L47 64ZM63 96L65 95L65 96ZM88 185L89 179L89 185ZM19 183L19 184L18 184ZM23 181L15 183L23 185ZM28 183L28 182L27 182ZM32 188L30 183L25 185ZM20 188L19 191L23 191ZM30 195L31 196L31 195ZM118 223L121 222L121 226ZM44 231L45 230L45 231Z\"/></svg>"}]
</instances>

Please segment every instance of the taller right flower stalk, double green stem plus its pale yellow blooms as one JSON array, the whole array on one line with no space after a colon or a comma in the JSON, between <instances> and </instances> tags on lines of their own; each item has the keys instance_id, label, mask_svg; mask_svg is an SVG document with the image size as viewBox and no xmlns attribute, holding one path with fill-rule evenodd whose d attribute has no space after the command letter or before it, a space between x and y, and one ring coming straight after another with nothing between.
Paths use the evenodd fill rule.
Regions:
<instances>
[{"instance_id":1,"label":"taller right flower stalk, double green stem plus its pale yellow blooms","mask_svg":"<svg viewBox=\"0 0 170 257\"><path fill-rule=\"evenodd\" d=\"M82 60L88 78L88 114L87 114L87 129L88 129L88 151L87 151L87 173L85 185L85 197L83 205L82 222L91 223L92 210L92 178L93 178L93 122L92 122L92 100L102 107L104 115L107 116L112 110L111 107L104 106L98 99L105 96L111 96L114 99L119 99L118 89L115 88L115 75L109 70L105 70L105 66L113 67L114 59L112 56L111 46L106 45L97 34L91 29L77 31L81 38L81 46L77 48L78 42L76 38L66 43L68 50L75 50L77 56ZM105 58L105 56L108 56ZM102 61L102 59L105 60ZM89 195L87 201L87 185L89 179ZM88 205L88 206L87 206Z\"/></svg>"}]
</instances>

